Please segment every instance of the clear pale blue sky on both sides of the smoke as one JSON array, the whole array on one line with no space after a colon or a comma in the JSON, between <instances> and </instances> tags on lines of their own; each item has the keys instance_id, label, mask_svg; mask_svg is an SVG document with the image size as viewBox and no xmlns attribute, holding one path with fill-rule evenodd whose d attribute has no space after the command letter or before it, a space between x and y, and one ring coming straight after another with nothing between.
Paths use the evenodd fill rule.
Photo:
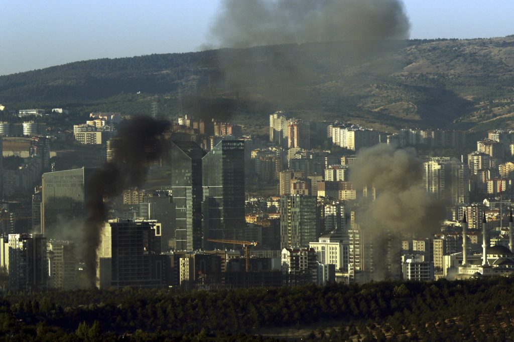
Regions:
<instances>
[{"instance_id":1,"label":"clear pale blue sky on both sides of the smoke","mask_svg":"<svg viewBox=\"0 0 514 342\"><path fill-rule=\"evenodd\" d=\"M221 1L0 0L0 75L101 57L195 51L208 43ZM514 34L512 0L404 3L411 38Z\"/></svg>"}]
</instances>

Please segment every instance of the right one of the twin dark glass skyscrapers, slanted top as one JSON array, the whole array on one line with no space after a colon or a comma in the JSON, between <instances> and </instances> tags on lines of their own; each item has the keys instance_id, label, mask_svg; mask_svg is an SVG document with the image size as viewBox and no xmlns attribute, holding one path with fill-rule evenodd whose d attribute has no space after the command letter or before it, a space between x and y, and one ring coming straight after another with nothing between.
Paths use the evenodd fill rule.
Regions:
<instances>
[{"instance_id":1,"label":"right one of the twin dark glass skyscrapers, slanted top","mask_svg":"<svg viewBox=\"0 0 514 342\"><path fill-rule=\"evenodd\" d=\"M206 239L240 240L246 227L244 141L222 140L205 155L202 166L203 247L223 248L222 244L209 244Z\"/></svg>"}]
</instances>

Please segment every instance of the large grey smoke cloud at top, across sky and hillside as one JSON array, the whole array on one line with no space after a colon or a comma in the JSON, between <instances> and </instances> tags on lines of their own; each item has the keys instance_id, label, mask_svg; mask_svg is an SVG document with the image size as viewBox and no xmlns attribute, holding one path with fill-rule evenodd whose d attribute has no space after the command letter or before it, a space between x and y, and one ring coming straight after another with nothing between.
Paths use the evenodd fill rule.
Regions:
<instances>
[{"instance_id":1,"label":"large grey smoke cloud at top, across sky and hillside","mask_svg":"<svg viewBox=\"0 0 514 342\"><path fill-rule=\"evenodd\" d=\"M341 77L348 68L390 70L376 57L402 46L409 28L400 0L224 0L203 49L248 48L215 53L225 96L319 111L331 82L353 86Z\"/></svg>"}]
</instances>

